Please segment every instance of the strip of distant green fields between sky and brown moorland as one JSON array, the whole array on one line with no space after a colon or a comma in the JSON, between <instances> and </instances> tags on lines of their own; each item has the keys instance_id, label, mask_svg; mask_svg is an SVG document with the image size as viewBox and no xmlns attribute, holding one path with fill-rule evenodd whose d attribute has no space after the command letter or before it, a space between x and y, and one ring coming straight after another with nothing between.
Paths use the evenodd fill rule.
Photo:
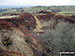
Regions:
<instances>
[{"instance_id":1,"label":"strip of distant green fields between sky and brown moorland","mask_svg":"<svg viewBox=\"0 0 75 56\"><path fill-rule=\"evenodd\" d=\"M60 14L64 15L75 15L75 6L35 6L35 7L28 7L28 8L11 8L11 9L0 9L0 16L5 13L36 13L41 10L48 10L48 11L55 11Z\"/></svg>"}]
</instances>

